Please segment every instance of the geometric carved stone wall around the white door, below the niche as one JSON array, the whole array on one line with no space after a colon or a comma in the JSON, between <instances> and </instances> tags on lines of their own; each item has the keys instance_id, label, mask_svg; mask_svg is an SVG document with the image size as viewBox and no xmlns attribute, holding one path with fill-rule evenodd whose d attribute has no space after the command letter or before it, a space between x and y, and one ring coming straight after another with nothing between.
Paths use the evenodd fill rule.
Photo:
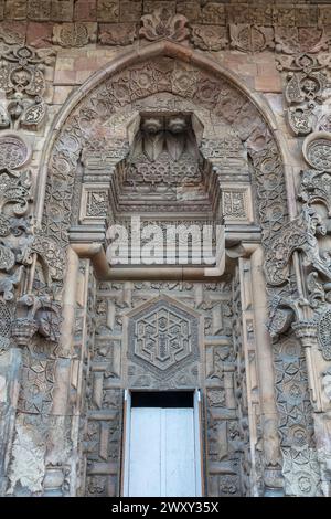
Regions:
<instances>
[{"instance_id":1,"label":"geometric carved stone wall around the white door, below the niche","mask_svg":"<svg viewBox=\"0 0 331 519\"><path fill-rule=\"evenodd\" d=\"M109 404L107 394L111 391L115 393L119 384L124 384L124 386L128 384L130 388L139 389L153 388L153 378L158 378L157 388L159 390L169 386L177 389L189 386L192 389L197 385L201 386L201 384L202 386L205 385L205 412L209 424L206 438L210 460L209 495L213 496L243 495L239 459L244 443L241 439L241 427L236 413L236 388L234 385L236 370L239 370L234 351L238 351L239 342L236 342L234 349L232 294L231 277L220 284L166 282L116 284L104 282L99 284L97 293L98 321L96 329L98 331L95 337L92 359L93 386L90 393L88 393L90 394L90 409L99 410L99 413L103 410L104 415L106 407L108 407L108 412L111 411L115 416L115 410L118 410L118 405L120 409L121 404L120 402ZM239 292L237 292L237 296L239 296ZM129 319L127 339L126 317ZM197 327L202 317L204 318L205 335L204 338L201 335L199 342L204 342L206 349L205 381L201 378L202 373L197 372L197 366L195 366L193 359L194 354L195 357L197 354ZM157 330L158 325L159 329ZM182 349L184 343L181 341L180 332L174 335L175 343L172 341L171 333L167 335L167 339L170 337L168 345L162 339L166 329L170 328L173 331L177 327L185 330L183 340L189 339L189 342L191 342L192 351L188 352L186 357L184 357L184 350ZM241 332L238 322L236 341L239 341ZM142 339L146 347L142 356L140 356ZM120 372L116 368L118 361L116 360L115 342L117 341L117 349L121 351L125 364L127 363L126 348L128 347L130 350L129 363L127 369L122 371L121 377L115 374L115 372ZM127 346L126 341L128 341ZM174 354L182 356L182 360L179 363L175 362L175 364L171 363L171 358L169 358L169 354L171 356L169 351L173 348ZM159 358L156 356L157 350L160 350ZM138 370L132 369L135 363L136 366L141 364ZM202 371L204 371L203 367ZM171 373L170 385L169 382L168 385L162 382L162 378L167 372ZM238 377L236 383L237 386L242 388L241 395L245 399L243 385L245 375L241 371ZM241 395L237 396L239 400ZM113 402L113 399L110 402ZM93 411L92 415L94 415ZM243 420L244 427L245 420ZM109 426L111 431L111 424L105 424L106 428L109 428ZM88 433L88 438L94 438L93 445L95 446L90 452L99 453L98 456L102 456L105 448L100 446L103 435L100 435L98 424L92 425L92 427L93 433L90 435ZM246 436L243 441L246 441ZM118 452L116 452L114 464L117 463L118 455ZM99 473L96 466L97 464L90 465L87 494L109 495L107 492L114 491L106 484L109 483L109 479L107 479L109 476L102 473L102 464ZM114 470L111 477L114 478L113 485L115 485L117 469L115 468L116 465L111 465L111 467L109 470ZM106 481L104 478L106 478ZM93 491L90 490L92 481L98 490L95 488L93 488Z\"/></svg>"}]
</instances>

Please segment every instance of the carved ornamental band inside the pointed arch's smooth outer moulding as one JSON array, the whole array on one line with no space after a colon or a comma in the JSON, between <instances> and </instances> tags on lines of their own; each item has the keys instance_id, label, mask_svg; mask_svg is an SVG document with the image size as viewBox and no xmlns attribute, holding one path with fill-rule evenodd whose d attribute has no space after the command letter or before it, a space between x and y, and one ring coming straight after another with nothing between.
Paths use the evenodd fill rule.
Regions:
<instances>
[{"instance_id":1,"label":"carved ornamental band inside the pointed arch's smooth outer moulding","mask_svg":"<svg viewBox=\"0 0 331 519\"><path fill-rule=\"evenodd\" d=\"M189 73L186 65L174 65L175 62L168 59L159 60L158 63L150 62L145 64L143 68L141 68L140 65L136 65L132 70L126 71L130 81L124 82L120 75L111 78L105 86L98 88L90 100L85 103L84 107L82 106L79 115L79 112L73 115L71 126L63 130L61 139L56 144L57 151L53 156L52 176L50 177L52 180L49 182L46 194L47 202L43 224L44 232L46 232L46 234L50 233L50 236L56 236L55 240L58 244L58 240L65 241L65 229L70 222L71 208L68 206L68 200L73 192L73 180L71 179L73 179L74 165L78 159L78 147L88 139L87 121L95 118L99 109L102 109L103 117L107 117L107 114L109 115L109 113L114 113L115 109L119 109L128 103L130 98L134 99L135 97L137 98L137 96L138 98L142 98L154 94L158 89L164 89L173 91L174 94L180 93L181 95L190 96L195 103L202 103L202 106L207 109L214 106L216 113L220 110L225 113L226 116L227 112L224 108L225 99L229 103L231 99L236 98L233 87L224 81L221 84L211 81L194 68ZM224 96L222 88L224 93L228 92L228 94ZM235 108L238 117L241 112L241 116L244 117L245 108L243 105L245 105L244 102ZM229 117L233 116L233 109L234 108L228 110ZM261 201L260 211L267 213L266 216L263 218L263 225L275 226L275 218L277 218L277 224L285 219L285 215L279 212L279 209L282 206L285 189L281 174L276 176L275 173L275 182L270 182L269 186L266 186L263 179L265 171L268 171L267 166L271 163L271 160L274 161L274 166L278 169L280 168L280 162L279 158L277 158L277 149L273 146L273 139L266 129L263 128L263 123L258 119L258 115L256 113L254 115L250 114L249 119L250 123L249 126L246 127L246 131L252 136L255 131L256 138L258 131L264 134L264 144L260 149L255 149L254 139L252 139L252 146L250 141L248 142L249 153L252 158L254 157L253 160L256 162L255 171L259 171L259 193L266 193L261 194L260 199L264 199L264 201ZM239 128L238 131L241 131ZM246 139L248 134L243 136L243 139ZM264 146L265 150L263 150ZM267 157L267 150L269 158ZM277 165L275 160L276 162L278 161ZM259 168L261 168L261 170L259 170ZM60 189L63 190L61 198L57 195ZM265 195L268 197L268 201L265 200ZM276 205L277 210L273 211L273 206L276 208ZM55 216L55 214L57 215L60 213L62 215L61 221ZM266 234L267 231L265 231L265 236Z\"/></svg>"}]
</instances>

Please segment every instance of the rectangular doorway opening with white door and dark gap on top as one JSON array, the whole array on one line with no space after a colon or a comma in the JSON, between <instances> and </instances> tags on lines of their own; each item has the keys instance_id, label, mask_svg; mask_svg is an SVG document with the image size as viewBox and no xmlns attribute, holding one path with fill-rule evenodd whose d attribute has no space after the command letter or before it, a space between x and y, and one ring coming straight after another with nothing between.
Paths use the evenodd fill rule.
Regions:
<instances>
[{"instance_id":1,"label":"rectangular doorway opening with white door and dark gap on top","mask_svg":"<svg viewBox=\"0 0 331 519\"><path fill-rule=\"evenodd\" d=\"M202 495L199 402L199 391L127 393L124 496Z\"/></svg>"}]
</instances>

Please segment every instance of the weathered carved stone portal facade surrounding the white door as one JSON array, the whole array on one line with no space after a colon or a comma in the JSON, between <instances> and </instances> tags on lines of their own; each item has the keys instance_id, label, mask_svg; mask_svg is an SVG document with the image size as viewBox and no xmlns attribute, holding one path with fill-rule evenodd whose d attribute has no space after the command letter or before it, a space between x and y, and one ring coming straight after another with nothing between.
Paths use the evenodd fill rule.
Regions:
<instances>
[{"instance_id":1,"label":"weathered carved stone portal facade surrounding the white door","mask_svg":"<svg viewBox=\"0 0 331 519\"><path fill-rule=\"evenodd\" d=\"M330 495L330 7L0 20L0 495L118 496L124 391L197 388L209 496ZM214 264L114 266L137 214Z\"/></svg>"}]
</instances>

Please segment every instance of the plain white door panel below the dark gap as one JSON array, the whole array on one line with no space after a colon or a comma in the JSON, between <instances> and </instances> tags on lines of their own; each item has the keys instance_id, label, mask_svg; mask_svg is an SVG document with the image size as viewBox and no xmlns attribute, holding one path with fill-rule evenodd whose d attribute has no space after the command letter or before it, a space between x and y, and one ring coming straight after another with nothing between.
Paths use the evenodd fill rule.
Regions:
<instances>
[{"instance_id":1,"label":"plain white door panel below the dark gap","mask_svg":"<svg viewBox=\"0 0 331 519\"><path fill-rule=\"evenodd\" d=\"M193 407L132 407L126 455L131 497L201 495Z\"/></svg>"}]
</instances>

